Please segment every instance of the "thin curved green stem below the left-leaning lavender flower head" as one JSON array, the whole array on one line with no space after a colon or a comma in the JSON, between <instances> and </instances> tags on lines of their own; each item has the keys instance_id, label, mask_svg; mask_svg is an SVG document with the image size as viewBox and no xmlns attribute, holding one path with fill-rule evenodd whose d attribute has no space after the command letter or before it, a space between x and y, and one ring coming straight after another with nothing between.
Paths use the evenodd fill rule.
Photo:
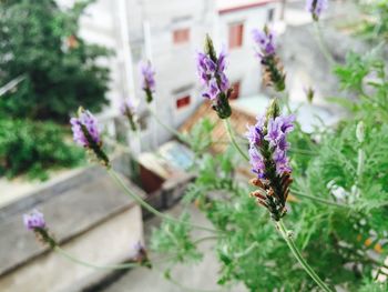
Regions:
<instances>
[{"instance_id":1,"label":"thin curved green stem below the left-leaning lavender flower head","mask_svg":"<svg viewBox=\"0 0 388 292\"><path fill-rule=\"evenodd\" d=\"M137 194L135 194L134 192L132 192L126 184L122 181L122 179L120 178L120 175L118 175L118 173L112 170L109 169L108 173L111 175L111 178L113 179L113 181L124 190L125 194L131 197L133 200L135 200L141 207L143 207L145 210L147 210L149 212L153 213L156 217L160 217L162 219L169 220L171 222L175 222L175 223L180 223L180 224L185 224L185 225L191 225L193 228L196 229L201 229L201 230L205 230L205 231L210 231L210 232L218 232L214 229L210 229L210 228L205 228L205 226L201 226L201 225L196 225L196 224L192 224L190 222L185 222L175 218L172 218L167 214L164 214L160 211L157 211L155 208L153 208L152 205L150 205L149 203L146 203L142 198L140 198Z\"/></svg>"}]
</instances>

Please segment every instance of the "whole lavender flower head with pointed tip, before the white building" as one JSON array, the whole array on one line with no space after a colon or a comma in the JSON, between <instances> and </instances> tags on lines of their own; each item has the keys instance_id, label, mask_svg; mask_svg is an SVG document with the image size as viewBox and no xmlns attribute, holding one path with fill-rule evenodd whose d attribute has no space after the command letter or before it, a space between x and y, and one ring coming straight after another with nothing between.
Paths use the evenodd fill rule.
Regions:
<instances>
[{"instance_id":1,"label":"whole lavender flower head with pointed tip, before the white building","mask_svg":"<svg viewBox=\"0 0 388 292\"><path fill-rule=\"evenodd\" d=\"M196 56L196 67L201 83L205 87L203 97L213 102L213 109L221 119L232 114L228 98L232 93L229 81L225 74L226 53L216 56L211 38L206 37L205 52Z\"/></svg>"}]
</instances>

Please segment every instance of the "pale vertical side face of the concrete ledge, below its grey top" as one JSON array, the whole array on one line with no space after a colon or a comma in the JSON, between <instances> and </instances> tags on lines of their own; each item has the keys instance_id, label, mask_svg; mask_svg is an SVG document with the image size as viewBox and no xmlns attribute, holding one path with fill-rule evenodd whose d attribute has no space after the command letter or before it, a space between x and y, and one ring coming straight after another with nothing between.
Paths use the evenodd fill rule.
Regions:
<instances>
[{"instance_id":1,"label":"pale vertical side face of the concrete ledge, below its grey top","mask_svg":"<svg viewBox=\"0 0 388 292\"><path fill-rule=\"evenodd\" d=\"M126 210L62 245L69 253L95 264L122 262L134 255L134 244L142 240L139 207ZM38 244L38 243L35 243ZM80 291L101 281L111 271L72 263L54 252L44 253L13 273L0 278L0 290L12 292Z\"/></svg>"}]
</instances>

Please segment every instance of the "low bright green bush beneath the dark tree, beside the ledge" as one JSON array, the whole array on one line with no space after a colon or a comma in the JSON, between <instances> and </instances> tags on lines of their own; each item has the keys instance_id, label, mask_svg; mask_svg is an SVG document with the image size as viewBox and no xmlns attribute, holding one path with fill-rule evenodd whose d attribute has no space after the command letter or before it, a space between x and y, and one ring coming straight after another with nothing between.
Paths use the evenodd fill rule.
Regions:
<instances>
[{"instance_id":1,"label":"low bright green bush beneath the dark tree, beside the ledge","mask_svg":"<svg viewBox=\"0 0 388 292\"><path fill-rule=\"evenodd\" d=\"M31 179L47 179L49 168L76 165L83 151L63 141L69 130L52 122L0 120L0 175L13 178L27 172Z\"/></svg>"}]
</instances>

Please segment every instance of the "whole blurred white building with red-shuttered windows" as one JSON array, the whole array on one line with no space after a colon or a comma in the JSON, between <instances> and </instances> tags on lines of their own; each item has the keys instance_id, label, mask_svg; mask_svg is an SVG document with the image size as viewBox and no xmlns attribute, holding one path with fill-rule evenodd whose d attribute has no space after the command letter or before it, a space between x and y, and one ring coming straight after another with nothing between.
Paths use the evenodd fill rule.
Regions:
<instances>
[{"instance_id":1,"label":"whole blurred white building with red-shuttered windows","mask_svg":"<svg viewBox=\"0 0 388 292\"><path fill-rule=\"evenodd\" d=\"M59 0L64 7L74 0ZM219 51L228 53L233 99L252 95L261 89L259 64L255 59L252 30L275 24L280 17L276 0L98 0L81 19L80 34L86 41L114 51L101 60L111 69L104 117L119 114L122 100L140 102L145 120L142 149L151 150L171 134L147 119L140 88L139 66L152 61L156 71L153 108L164 123L177 128L203 102L196 75L195 52L202 50L208 33Z\"/></svg>"}]
</instances>

